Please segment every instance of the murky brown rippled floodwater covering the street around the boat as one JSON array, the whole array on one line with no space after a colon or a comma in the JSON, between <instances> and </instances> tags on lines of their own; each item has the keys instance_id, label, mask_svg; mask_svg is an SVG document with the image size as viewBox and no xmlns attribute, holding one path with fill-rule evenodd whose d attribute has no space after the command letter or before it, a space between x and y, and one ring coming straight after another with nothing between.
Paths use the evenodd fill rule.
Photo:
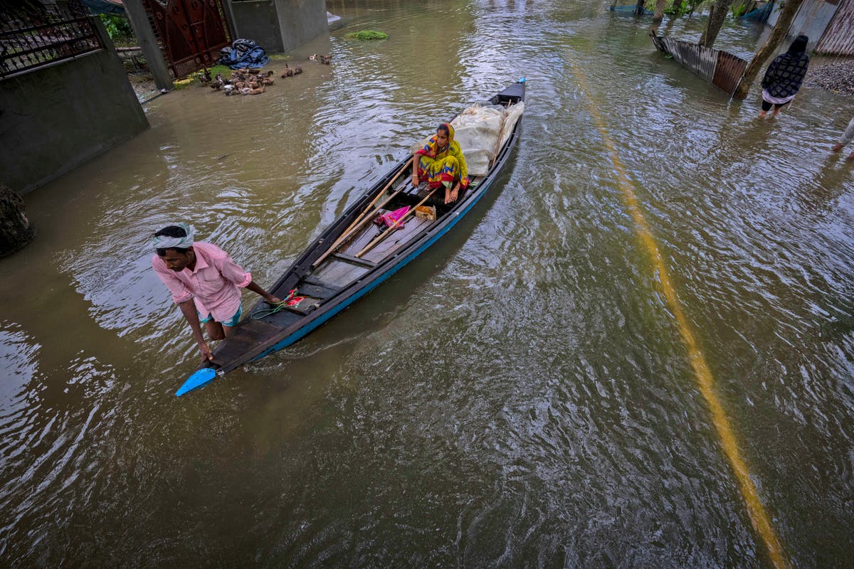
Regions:
<instances>
[{"instance_id":1,"label":"murky brown rippled floodwater covering the street around the boat","mask_svg":"<svg viewBox=\"0 0 854 569\"><path fill-rule=\"evenodd\" d=\"M0 259L3 565L850 566L854 167L828 152L850 99L758 121L756 91L730 102L607 4L330 2L347 25L295 58L331 66L160 96L26 195L38 238ZM270 284L523 75L515 157L453 234L174 397L197 355L155 229L187 220Z\"/></svg>"}]
</instances>

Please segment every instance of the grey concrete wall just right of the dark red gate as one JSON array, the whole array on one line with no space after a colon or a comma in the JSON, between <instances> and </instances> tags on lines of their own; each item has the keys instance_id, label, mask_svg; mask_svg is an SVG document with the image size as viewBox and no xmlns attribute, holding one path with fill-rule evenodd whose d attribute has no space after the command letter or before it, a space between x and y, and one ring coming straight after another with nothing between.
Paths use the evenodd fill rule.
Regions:
<instances>
[{"instance_id":1,"label":"grey concrete wall just right of the dark red gate","mask_svg":"<svg viewBox=\"0 0 854 569\"><path fill-rule=\"evenodd\" d=\"M294 49L329 33L325 0L228 0L235 39L251 39L267 53Z\"/></svg>"}]
</instances>

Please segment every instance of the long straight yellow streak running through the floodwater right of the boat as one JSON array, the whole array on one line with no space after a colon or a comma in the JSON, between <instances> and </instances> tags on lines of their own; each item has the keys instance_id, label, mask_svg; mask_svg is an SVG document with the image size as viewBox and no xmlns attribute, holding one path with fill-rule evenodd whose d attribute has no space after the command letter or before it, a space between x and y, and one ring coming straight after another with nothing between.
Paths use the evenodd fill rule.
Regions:
<instances>
[{"instance_id":1,"label":"long straight yellow streak running through the floodwater right of the boat","mask_svg":"<svg viewBox=\"0 0 854 569\"><path fill-rule=\"evenodd\" d=\"M585 80L581 69L577 67L575 62L571 61L571 59L569 59L569 63L573 73L578 79L578 84L582 87L582 91L589 93L590 91L588 90L587 81ZM646 218L644 218L643 212L640 210L637 198L635 197L635 189L629 180L629 175L626 173L626 169L617 155L617 150L614 147L613 141L611 141L611 136L608 136L608 131L605 129L605 121L602 119L602 116L597 111L596 106L593 104L593 101L589 96L585 98L585 101L587 102L590 114L593 116L594 122L596 123L596 128L600 131L602 139L605 142L605 148L608 149L608 153L611 155L611 164L614 165L614 170L617 172L617 182L620 185L623 200L629 208L629 213L631 214L632 219L635 221L635 228L638 236L640 237L640 242L646 248L646 252L649 253L650 257L652 257L652 264L658 273L658 281L661 282L664 298L667 299L670 311L676 317L676 325L679 328L679 334L681 335L682 342L685 344L688 359L691 362L691 367L693 368L694 375L697 378L699 390L703 394L703 397L711 410L711 421L714 423L717 434L721 438L723 451L727 455L729 463L733 467L735 478L738 479L741 496L744 498L746 503L747 512L750 515L753 527L765 542L765 545L768 548L769 557L774 563L774 566L780 569L788 567L780 540L775 534L774 527L771 525L771 521L769 520L768 514L765 512L762 502L759 501L756 486L753 485L753 480L750 477L750 471L747 469L747 465L741 457L739 445L735 442L733 429L730 427L727 415L723 411L721 400L717 398L717 393L715 392L715 378L712 376L708 364L705 363L705 357L703 357L703 352L700 351L699 346L697 345L696 336L693 333L690 324L688 324L685 313L682 311L679 299L676 297L676 288L674 288L673 284L670 282L670 276L668 275L667 267L664 264L664 259L658 251L658 244L652 236L652 231L649 229L649 224L646 223Z\"/></svg>"}]
</instances>

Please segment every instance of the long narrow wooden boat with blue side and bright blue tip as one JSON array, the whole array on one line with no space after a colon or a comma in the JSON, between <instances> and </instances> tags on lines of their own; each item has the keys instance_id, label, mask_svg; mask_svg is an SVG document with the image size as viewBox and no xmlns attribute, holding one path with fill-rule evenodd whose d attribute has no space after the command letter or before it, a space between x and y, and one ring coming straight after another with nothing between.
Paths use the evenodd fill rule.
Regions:
<instances>
[{"instance_id":1,"label":"long narrow wooden boat with blue side and bright blue tip","mask_svg":"<svg viewBox=\"0 0 854 569\"><path fill-rule=\"evenodd\" d=\"M524 96L521 78L489 102L506 107L505 114L510 115ZM469 188L451 204L444 203L444 189L432 192L424 184L413 188L412 156L401 160L313 240L271 288L280 299L289 295L303 299L295 305L277 307L278 311L260 301L213 350L213 362L196 370L176 394L183 395L244 363L293 344L424 253L486 195L516 145L520 123L521 118L512 125L486 174L470 177ZM383 230L373 223L377 216L403 206L409 206L411 212L433 206L435 212L423 217L410 213L401 220L402 229L392 226Z\"/></svg>"}]
</instances>

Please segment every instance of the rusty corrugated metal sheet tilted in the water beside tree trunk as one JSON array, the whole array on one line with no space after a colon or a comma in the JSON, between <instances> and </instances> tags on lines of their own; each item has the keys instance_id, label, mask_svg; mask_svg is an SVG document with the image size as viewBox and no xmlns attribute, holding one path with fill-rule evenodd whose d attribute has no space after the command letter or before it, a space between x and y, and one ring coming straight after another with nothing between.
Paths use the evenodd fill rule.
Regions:
<instances>
[{"instance_id":1,"label":"rusty corrugated metal sheet tilted in the water beside tree trunk","mask_svg":"<svg viewBox=\"0 0 854 569\"><path fill-rule=\"evenodd\" d=\"M725 90L729 95L735 92L747 67L747 61L736 55L681 39L652 36L652 43L665 54L673 55L673 59L683 67Z\"/></svg>"}]
</instances>

